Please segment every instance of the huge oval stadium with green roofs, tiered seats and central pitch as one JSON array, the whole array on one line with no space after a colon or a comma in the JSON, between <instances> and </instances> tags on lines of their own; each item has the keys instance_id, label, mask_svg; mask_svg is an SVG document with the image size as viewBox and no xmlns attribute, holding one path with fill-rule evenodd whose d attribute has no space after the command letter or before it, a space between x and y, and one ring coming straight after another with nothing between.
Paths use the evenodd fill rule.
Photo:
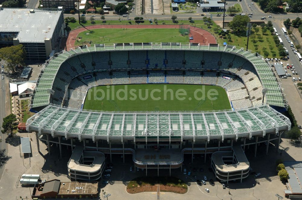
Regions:
<instances>
[{"instance_id":1,"label":"huge oval stadium with green roofs, tiered seats and central pitch","mask_svg":"<svg viewBox=\"0 0 302 200\"><path fill-rule=\"evenodd\" d=\"M189 100L174 107L163 101L157 103L163 106L148 107L147 101L145 110L135 101L86 103L95 87L125 85L132 89L166 85L175 90L205 85L226 95L218 96L217 105L200 101L205 103L198 108L198 102L190 106ZM68 170L76 180L100 179L105 154L110 162L113 154L123 159L130 154L146 175L152 170L171 174L182 168L184 154L189 154L192 162L194 155L204 156L205 162L210 157L219 180L242 181L249 175L245 147L253 145L256 156L257 145L267 142L267 153L268 144L291 128L290 120L279 112L287 108L282 91L261 55L236 46L84 45L59 52L43 65L30 102L31 111L37 113L26 127L47 142L49 152L50 143L59 145L60 155L62 145L72 147Z\"/></svg>"}]
</instances>

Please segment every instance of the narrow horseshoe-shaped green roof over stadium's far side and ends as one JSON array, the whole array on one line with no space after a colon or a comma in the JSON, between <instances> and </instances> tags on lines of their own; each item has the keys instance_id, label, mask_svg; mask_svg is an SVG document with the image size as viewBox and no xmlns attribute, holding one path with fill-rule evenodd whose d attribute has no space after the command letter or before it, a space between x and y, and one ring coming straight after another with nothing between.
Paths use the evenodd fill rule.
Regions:
<instances>
[{"instance_id":1,"label":"narrow horseshoe-shaped green roof over stadium's far side and ends","mask_svg":"<svg viewBox=\"0 0 302 200\"><path fill-rule=\"evenodd\" d=\"M190 43L140 43L139 45L115 45L115 44L95 44L87 48L73 48L69 51L62 51L57 54L57 57L51 57L47 63L44 64L42 69L42 76L37 81L37 87L32 98L31 107L36 108L46 106L50 103L50 91L55 80L56 73L60 65L66 61L67 58L82 54L85 52L104 52L114 50L192 50L192 51L218 51L230 52L249 60L255 67L263 88L268 89L265 95L265 102L269 105L285 107L282 89L276 80L271 67L264 61L262 56L256 55L255 52L250 50L246 51L245 48L240 48L232 45L210 45L210 44L195 44Z\"/></svg>"}]
</instances>

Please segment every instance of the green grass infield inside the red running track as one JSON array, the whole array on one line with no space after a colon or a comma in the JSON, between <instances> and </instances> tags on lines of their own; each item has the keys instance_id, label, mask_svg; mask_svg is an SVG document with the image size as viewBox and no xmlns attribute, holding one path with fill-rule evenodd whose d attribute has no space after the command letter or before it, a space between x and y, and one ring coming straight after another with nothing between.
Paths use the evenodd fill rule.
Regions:
<instances>
[{"instance_id":1,"label":"green grass infield inside the red running track","mask_svg":"<svg viewBox=\"0 0 302 200\"><path fill-rule=\"evenodd\" d=\"M188 35L182 36L178 28L155 29L93 29L78 34L82 37L76 44L124 43L124 42L189 42Z\"/></svg>"}]
</instances>

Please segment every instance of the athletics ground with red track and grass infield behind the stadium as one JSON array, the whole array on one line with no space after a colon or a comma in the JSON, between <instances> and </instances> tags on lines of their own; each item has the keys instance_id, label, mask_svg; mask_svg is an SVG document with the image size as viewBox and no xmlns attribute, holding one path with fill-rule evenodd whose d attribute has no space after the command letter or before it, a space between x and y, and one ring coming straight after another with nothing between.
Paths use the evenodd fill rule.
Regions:
<instances>
[{"instance_id":1,"label":"athletics ground with red track and grass infield behind the stadium","mask_svg":"<svg viewBox=\"0 0 302 200\"><path fill-rule=\"evenodd\" d=\"M92 25L81 27L70 31L66 40L66 49L83 44L90 45L88 43L90 40L93 43L107 44L129 42L217 43L215 36L206 30L188 25L183 25L183 27L190 28L189 35L181 36L178 32L180 25ZM138 31L141 32L140 35L137 34ZM79 40L80 36L81 40ZM189 36L193 36L193 39L189 40Z\"/></svg>"}]
</instances>

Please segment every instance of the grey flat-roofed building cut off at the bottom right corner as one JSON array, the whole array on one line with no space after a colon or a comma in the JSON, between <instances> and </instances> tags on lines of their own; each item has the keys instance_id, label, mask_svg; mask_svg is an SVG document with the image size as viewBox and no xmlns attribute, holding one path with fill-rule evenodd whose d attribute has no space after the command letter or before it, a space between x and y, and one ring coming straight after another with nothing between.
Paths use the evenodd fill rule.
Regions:
<instances>
[{"instance_id":1,"label":"grey flat-roofed building cut off at the bottom right corner","mask_svg":"<svg viewBox=\"0 0 302 200\"><path fill-rule=\"evenodd\" d=\"M283 163L288 172L289 187L287 194L302 195L302 161L289 161Z\"/></svg>"}]
</instances>

